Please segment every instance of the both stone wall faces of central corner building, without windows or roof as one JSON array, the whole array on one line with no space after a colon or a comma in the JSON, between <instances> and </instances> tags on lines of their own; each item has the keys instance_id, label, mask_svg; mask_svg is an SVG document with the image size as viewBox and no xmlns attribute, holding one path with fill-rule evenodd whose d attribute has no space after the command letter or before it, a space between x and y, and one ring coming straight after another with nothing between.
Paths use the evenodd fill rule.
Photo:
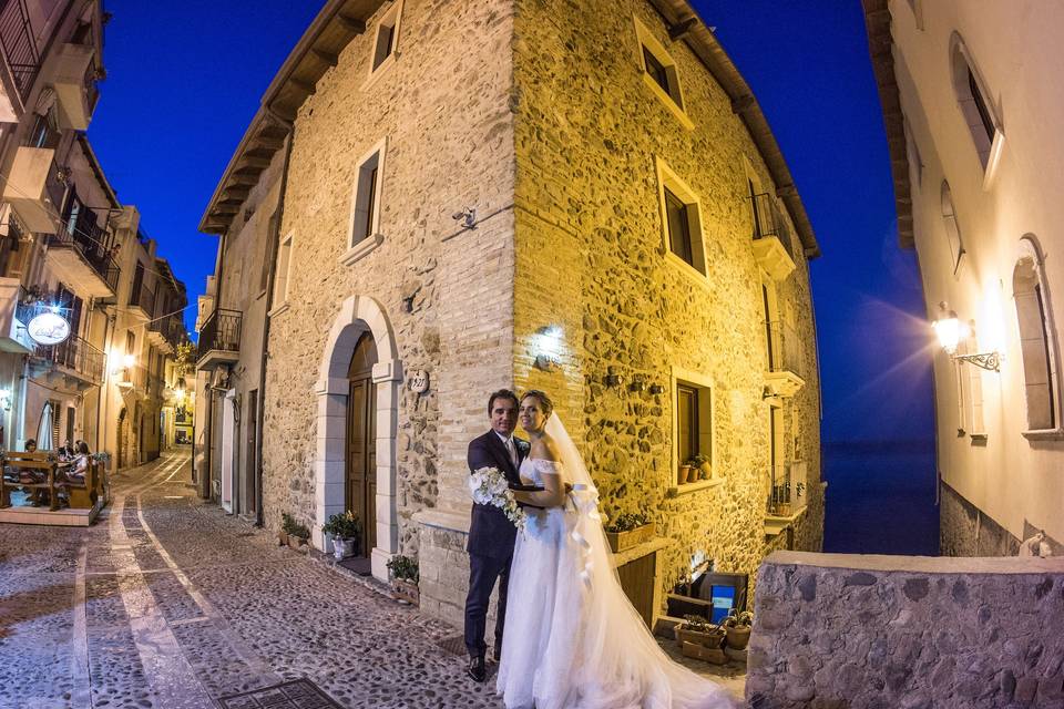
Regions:
<instances>
[{"instance_id":1,"label":"both stone wall faces of central corner building, without windows or roof","mask_svg":"<svg viewBox=\"0 0 1064 709\"><path fill-rule=\"evenodd\" d=\"M267 526L288 512L314 527L323 500L342 504L328 482L344 465L334 421L346 392L334 380L371 330L378 351L395 352L381 377L397 383L377 409L378 547L419 557L432 615L461 619L466 448L500 387L552 393L608 516L651 514L671 541L663 587L698 553L753 582L771 548L819 549L819 380L797 237L796 268L774 289L805 386L781 401L776 440L807 465L808 508L765 536L765 277L747 181L776 185L725 91L643 0L405 0L395 56L370 73L376 22L396 8L383 4L340 52L291 134L279 226L291 261L263 399ZM641 79L636 17L676 62L692 130ZM381 238L352 257L351 186L381 141ZM705 275L664 255L656 161L699 196ZM452 216L467 207L474 228ZM348 325L369 304L374 322ZM551 327L559 367L543 371L533 364ZM688 490L675 483L677 371L713 382L716 480ZM630 387L640 380L662 392Z\"/></svg>"}]
</instances>

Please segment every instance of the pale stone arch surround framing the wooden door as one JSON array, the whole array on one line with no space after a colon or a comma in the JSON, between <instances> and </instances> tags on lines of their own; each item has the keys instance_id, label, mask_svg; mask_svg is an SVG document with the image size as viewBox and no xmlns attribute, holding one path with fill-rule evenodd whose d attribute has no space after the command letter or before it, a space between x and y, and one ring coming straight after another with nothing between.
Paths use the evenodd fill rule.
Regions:
<instances>
[{"instance_id":1,"label":"pale stone arch surround framing the wooden door","mask_svg":"<svg viewBox=\"0 0 1064 709\"><path fill-rule=\"evenodd\" d=\"M399 551L396 515L396 431L402 367L396 338L383 308L369 296L351 296L340 306L326 338L318 382L317 448L315 454L315 546L325 548L321 525L344 512L346 495L348 368L364 332L377 347L372 367L376 393L376 546L370 552L374 576L386 580L386 566Z\"/></svg>"}]
</instances>

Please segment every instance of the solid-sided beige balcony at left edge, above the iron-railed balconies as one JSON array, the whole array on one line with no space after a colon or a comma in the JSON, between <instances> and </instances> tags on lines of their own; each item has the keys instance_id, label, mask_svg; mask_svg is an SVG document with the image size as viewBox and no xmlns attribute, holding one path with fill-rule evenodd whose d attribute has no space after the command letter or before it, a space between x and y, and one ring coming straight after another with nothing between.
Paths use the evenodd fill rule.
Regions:
<instances>
[{"instance_id":1,"label":"solid-sided beige balcony at left edge, above the iron-railed balconies","mask_svg":"<svg viewBox=\"0 0 1064 709\"><path fill-rule=\"evenodd\" d=\"M3 199L37 234L55 234L62 224L60 209L66 185L60 182L54 157L55 151L50 147L19 147L3 185Z\"/></svg>"}]
</instances>

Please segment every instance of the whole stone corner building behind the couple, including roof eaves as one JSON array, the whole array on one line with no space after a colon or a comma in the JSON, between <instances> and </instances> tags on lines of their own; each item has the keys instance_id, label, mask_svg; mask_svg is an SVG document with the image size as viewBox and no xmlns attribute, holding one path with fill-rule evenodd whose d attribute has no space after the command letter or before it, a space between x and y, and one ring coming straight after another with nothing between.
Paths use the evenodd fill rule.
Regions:
<instances>
[{"instance_id":1,"label":"whole stone corner building behind the couple, including roof eaves","mask_svg":"<svg viewBox=\"0 0 1064 709\"><path fill-rule=\"evenodd\" d=\"M235 434L262 442L266 524L325 546L352 508L375 576L419 556L427 612L461 616L466 449L504 386L554 395L610 516L657 523L626 557L655 602L693 558L819 548L819 251L686 2L327 2L201 228L221 255L269 238L219 255L211 305L268 298L262 429ZM696 453L713 476L681 482Z\"/></svg>"}]
</instances>

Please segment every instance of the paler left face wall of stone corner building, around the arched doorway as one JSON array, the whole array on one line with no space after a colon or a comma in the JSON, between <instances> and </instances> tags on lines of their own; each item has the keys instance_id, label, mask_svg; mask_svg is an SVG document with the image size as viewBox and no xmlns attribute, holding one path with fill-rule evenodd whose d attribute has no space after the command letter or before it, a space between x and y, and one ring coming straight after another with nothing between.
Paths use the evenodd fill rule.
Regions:
<instances>
[{"instance_id":1,"label":"paler left face wall of stone corner building, around the arched doorway","mask_svg":"<svg viewBox=\"0 0 1064 709\"><path fill-rule=\"evenodd\" d=\"M403 371L431 387L399 401L397 505L410 514L459 502L464 452L484 423L484 394L510 383L512 319L512 19L503 0L407 2L396 61L366 85L376 20L340 53L295 124L282 233L295 234L290 308L272 325L265 397L264 506L313 524L318 379L325 338L352 294L381 304ZM475 41L471 41L475 39ZM347 250L357 161L382 137L383 243L351 266ZM474 206L475 230L451 215ZM409 306L407 305L409 304ZM443 481L456 490L441 491ZM468 513L468 512L467 512Z\"/></svg>"}]
</instances>

